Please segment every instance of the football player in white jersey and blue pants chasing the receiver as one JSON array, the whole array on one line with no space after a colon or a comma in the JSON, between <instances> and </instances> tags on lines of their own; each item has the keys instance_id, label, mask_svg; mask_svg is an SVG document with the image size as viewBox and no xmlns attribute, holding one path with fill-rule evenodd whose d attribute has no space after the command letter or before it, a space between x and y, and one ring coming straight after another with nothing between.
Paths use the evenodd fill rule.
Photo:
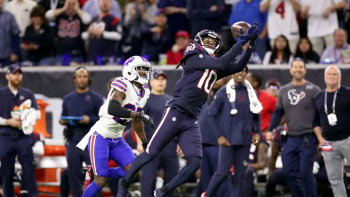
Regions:
<instances>
[{"instance_id":1,"label":"football player in white jersey and blue pants chasing the receiver","mask_svg":"<svg viewBox=\"0 0 350 197\"><path fill-rule=\"evenodd\" d=\"M120 179L134 161L135 155L123 140L123 130L130 122L144 148L147 147L143 123L154 128L153 120L142 111L150 90L146 85L153 78L150 63L142 56L132 56L122 67L123 77L111 84L105 104L100 108L100 120L93 125L78 147L88 144L94 180L85 189L83 197L93 197L105 185L107 177ZM120 167L108 168L108 158Z\"/></svg>"}]
</instances>

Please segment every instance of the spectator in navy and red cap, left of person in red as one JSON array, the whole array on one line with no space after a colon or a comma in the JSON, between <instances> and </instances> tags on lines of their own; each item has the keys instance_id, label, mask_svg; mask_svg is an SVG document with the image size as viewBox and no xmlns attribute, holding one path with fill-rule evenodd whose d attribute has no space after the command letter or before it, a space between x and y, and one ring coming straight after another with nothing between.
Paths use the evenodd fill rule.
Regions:
<instances>
[{"instance_id":1,"label":"spectator in navy and red cap, left of person in red","mask_svg":"<svg viewBox=\"0 0 350 197\"><path fill-rule=\"evenodd\" d=\"M159 54L166 54L171 48L172 36L167 26L164 10L159 9L154 17L155 25L143 25L141 54L149 57L148 61L158 62Z\"/></svg>"}]
</instances>

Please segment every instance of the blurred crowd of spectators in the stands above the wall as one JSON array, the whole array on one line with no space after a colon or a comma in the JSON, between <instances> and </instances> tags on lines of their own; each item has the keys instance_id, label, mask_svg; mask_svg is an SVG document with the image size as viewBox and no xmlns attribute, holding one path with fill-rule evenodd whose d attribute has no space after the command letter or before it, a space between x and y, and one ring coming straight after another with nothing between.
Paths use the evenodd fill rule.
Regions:
<instances>
[{"instance_id":1,"label":"blurred crowd of spectators in the stands above the wall","mask_svg":"<svg viewBox=\"0 0 350 197\"><path fill-rule=\"evenodd\" d=\"M0 65L174 65L203 29L259 23L250 64L349 63L349 0L0 0Z\"/></svg>"}]
</instances>

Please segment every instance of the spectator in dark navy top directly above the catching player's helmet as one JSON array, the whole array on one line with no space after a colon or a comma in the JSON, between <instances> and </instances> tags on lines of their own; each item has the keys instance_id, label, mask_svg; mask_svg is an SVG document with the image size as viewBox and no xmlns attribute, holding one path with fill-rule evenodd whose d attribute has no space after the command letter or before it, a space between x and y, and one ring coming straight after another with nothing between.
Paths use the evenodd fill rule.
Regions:
<instances>
[{"instance_id":1,"label":"spectator in dark navy top directly above the catching player's helmet","mask_svg":"<svg viewBox=\"0 0 350 197\"><path fill-rule=\"evenodd\" d=\"M189 0L187 17L191 22L191 37L205 29L218 32L221 28L220 18L222 0Z\"/></svg>"}]
</instances>

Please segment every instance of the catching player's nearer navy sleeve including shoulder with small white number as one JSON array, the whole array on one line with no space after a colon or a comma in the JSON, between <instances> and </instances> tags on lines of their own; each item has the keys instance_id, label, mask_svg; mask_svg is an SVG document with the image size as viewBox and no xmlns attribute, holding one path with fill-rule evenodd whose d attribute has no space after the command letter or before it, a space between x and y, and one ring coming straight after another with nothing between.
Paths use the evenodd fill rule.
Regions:
<instances>
[{"instance_id":1,"label":"catching player's nearer navy sleeve including shoulder with small white number","mask_svg":"<svg viewBox=\"0 0 350 197\"><path fill-rule=\"evenodd\" d=\"M186 62L185 71L195 69L226 70L235 57L242 52L242 47L239 44L235 44L226 54L219 58L209 55L204 50L199 44L189 44L185 49L184 57L180 60L180 65L184 65Z\"/></svg>"}]
</instances>

